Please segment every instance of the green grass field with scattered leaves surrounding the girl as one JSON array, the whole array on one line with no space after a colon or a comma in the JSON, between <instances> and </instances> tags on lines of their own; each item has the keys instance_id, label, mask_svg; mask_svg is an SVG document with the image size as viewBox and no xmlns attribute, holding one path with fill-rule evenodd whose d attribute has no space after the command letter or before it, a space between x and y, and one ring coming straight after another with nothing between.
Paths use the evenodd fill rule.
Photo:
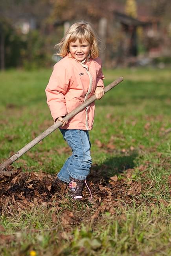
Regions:
<instances>
[{"instance_id":1,"label":"green grass field with scattered leaves surrounding the girl","mask_svg":"<svg viewBox=\"0 0 171 256\"><path fill-rule=\"evenodd\" d=\"M44 93L50 74L0 73L1 163L53 124ZM104 74L105 85L124 78L96 102L90 132L92 172L99 175L95 187L105 193L98 202L72 202L63 195L60 202L54 196L51 207L23 210L8 204L0 217L0 255L171 255L171 72L148 68ZM13 166L48 176L69 154L55 131ZM117 197L111 200L113 191Z\"/></svg>"}]
</instances>

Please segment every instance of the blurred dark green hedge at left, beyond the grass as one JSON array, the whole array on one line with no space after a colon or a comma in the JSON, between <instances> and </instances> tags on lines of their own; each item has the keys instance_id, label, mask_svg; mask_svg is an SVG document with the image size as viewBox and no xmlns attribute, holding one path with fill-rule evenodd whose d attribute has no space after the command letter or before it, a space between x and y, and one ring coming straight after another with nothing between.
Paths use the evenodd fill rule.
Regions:
<instances>
[{"instance_id":1,"label":"blurred dark green hedge at left, beyond the grass","mask_svg":"<svg viewBox=\"0 0 171 256\"><path fill-rule=\"evenodd\" d=\"M23 34L5 24L3 33L5 69L35 69L52 65L52 56L55 53L53 46L57 43L55 31L46 34L41 30L30 30L29 33Z\"/></svg>"}]
</instances>

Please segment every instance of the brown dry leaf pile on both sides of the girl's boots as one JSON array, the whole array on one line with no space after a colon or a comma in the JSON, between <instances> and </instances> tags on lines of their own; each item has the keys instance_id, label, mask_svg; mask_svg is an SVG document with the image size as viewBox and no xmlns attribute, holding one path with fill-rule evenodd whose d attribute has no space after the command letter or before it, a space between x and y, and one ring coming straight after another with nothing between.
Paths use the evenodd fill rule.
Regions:
<instances>
[{"instance_id":1,"label":"brown dry leaf pile on both sides of the girl's boots","mask_svg":"<svg viewBox=\"0 0 171 256\"><path fill-rule=\"evenodd\" d=\"M23 173L21 168L14 169L9 166L8 170L15 171L10 177L0 176L0 211L15 206L18 211L28 207L44 205L58 205L62 200L70 200L66 197L68 187L57 186L56 176L47 173ZM7 170L7 171L8 171ZM99 212L110 211L114 213L114 206L132 204L132 196L140 195L142 185L128 178L134 169L128 169L120 180L115 175L106 179L98 175L97 170L92 168L88 178L88 186L92 191L93 200L90 201L88 189L83 189L83 202L92 202L96 205L96 215ZM101 172L101 170L99 171ZM136 198L135 198L136 200ZM138 199L136 203L139 204ZM96 216L94 216L96 217Z\"/></svg>"}]
</instances>

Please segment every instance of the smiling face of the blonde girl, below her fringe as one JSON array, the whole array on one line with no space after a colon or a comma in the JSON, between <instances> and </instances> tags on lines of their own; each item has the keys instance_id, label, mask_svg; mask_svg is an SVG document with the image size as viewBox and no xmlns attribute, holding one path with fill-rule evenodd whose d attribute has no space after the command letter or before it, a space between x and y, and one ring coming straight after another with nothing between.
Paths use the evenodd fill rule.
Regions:
<instances>
[{"instance_id":1,"label":"smiling face of the blonde girl, below her fringe","mask_svg":"<svg viewBox=\"0 0 171 256\"><path fill-rule=\"evenodd\" d=\"M75 42L69 44L69 50L72 57L81 62L88 56L91 50L91 45L86 40L79 43L79 40L77 39Z\"/></svg>"}]
</instances>

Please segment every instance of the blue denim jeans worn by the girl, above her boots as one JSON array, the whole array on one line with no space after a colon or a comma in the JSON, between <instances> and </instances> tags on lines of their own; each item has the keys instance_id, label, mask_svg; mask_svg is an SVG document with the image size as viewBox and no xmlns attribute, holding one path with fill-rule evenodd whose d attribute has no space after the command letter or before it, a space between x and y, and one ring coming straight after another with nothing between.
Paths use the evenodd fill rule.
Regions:
<instances>
[{"instance_id":1,"label":"blue denim jeans worn by the girl, above her boots","mask_svg":"<svg viewBox=\"0 0 171 256\"><path fill-rule=\"evenodd\" d=\"M90 156L91 143L88 131L60 129L64 139L72 149L70 156L64 163L57 177L64 182L70 182L70 176L85 180L90 173L92 158Z\"/></svg>"}]
</instances>

